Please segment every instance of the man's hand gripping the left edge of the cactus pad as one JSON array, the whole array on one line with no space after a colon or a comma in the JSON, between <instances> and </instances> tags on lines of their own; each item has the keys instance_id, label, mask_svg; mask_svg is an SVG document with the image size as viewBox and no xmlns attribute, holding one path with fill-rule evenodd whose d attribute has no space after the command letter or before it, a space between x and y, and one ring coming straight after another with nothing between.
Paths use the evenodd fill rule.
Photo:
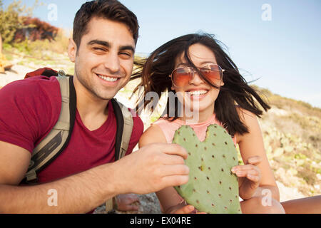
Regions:
<instances>
[{"instance_id":1,"label":"man's hand gripping the left edge of the cactus pad","mask_svg":"<svg viewBox=\"0 0 321 228\"><path fill-rule=\"evenodd\" d=\"M180 145L151 143L113 165L114 187L118 194L147 194L188 182L188 156Z\"/></svg>"}]
</instances>

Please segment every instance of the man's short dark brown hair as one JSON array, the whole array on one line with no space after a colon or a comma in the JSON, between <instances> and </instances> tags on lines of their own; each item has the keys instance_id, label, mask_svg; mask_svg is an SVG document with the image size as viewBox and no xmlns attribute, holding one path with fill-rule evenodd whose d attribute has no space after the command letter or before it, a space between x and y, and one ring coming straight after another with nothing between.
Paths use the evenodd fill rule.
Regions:
<instances>
[{"instance_id":1,"label":"man's short dark brown hair","mask_svg":"<svg viewBox=\"0 0 321 228\"><path fill-rule=\"evenodd\" d=\"M73 21L73 41L77 47L80 46L81 37L88 32L89 21L94 17L126 24L137 43L139 26L136 15L117 0L95 0L84 3Z\"/></svg>"}]
</instances>

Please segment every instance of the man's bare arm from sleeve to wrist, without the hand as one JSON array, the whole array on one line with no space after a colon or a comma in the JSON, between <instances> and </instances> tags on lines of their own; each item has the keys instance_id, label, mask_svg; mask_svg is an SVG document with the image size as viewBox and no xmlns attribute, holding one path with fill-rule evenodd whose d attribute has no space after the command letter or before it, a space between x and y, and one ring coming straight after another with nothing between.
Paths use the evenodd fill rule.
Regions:
<instances>
[{"instance_id":1,"label":"man's bare arm from sleeve to wrist, without the hand","mask_svg":"<svg viewBox=\"0 0 321 228\"><path fill-rule=\"evenodd\" d=\"M84 213L115 196L110 165L95 167L54 182L33 186L16 186L30 163L30 152L0 141L0 212L1 213ZM57 193L58 206L48 204L49 190Z\"/></svg>"}]
</instances>

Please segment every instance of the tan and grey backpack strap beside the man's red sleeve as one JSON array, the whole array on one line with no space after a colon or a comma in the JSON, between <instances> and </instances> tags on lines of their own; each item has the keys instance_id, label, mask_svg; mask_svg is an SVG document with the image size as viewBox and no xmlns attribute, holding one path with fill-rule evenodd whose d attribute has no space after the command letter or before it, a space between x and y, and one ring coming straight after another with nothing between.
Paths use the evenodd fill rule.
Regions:
<instances>
[{"instance_id":1,"label":"tan and grey backpack strap beside the man's red sleeve","mask_svg":"<svg viewBox=\"0 0 321 228\"><path fill-rule=\"evenodd\" d=\"M57 77L61 90L61 113L51 132L34 148L26 172L27 183L37 182L37 172L49 165L68 145L76 116L76 91L73 77Z\"/></svg>"}]
</instances>

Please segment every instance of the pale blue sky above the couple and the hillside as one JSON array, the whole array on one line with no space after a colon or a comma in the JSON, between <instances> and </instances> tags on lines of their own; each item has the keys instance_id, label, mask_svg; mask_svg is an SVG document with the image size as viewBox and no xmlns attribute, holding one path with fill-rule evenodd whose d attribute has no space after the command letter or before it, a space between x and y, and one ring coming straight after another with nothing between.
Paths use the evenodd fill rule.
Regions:
<instances>
[{"instance_id":1,"label":"pale blue sky above the couple and the hillside","mask_svg":"<svg viewBox=\"0 0 321 228\"><path fill-rule=\"evenodd\" d=\"M40 0L34 16L72 29L85 1ZM321 108L320 0L120 0L138 17L136 53L187 33L215 35L244 78ZM4 7L12 1L4 0ZM31 6L33 0L22 0Z\"/></svg>"}]
</instances>

